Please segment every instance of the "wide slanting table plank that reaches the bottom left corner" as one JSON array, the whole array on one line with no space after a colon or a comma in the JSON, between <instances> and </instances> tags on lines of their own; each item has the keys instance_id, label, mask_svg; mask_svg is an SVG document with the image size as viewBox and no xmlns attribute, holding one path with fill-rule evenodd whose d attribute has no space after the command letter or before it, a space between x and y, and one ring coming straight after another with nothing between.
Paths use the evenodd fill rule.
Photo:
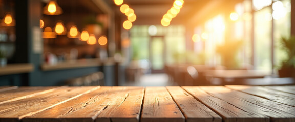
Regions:
<instances>
[{"instance_id":1,"label":"wide slanting table plank that reaches the bottom left corner","mask_svg":"<svg viewBox=\"0 0 295 122\"><path fill-rule=\"evenodd\" d=\"M56 89L48 94L0 104L0 121L19 121L24 117L50 109L97 88L99 86L65 87Z\"/></svg>"}]
</instances>

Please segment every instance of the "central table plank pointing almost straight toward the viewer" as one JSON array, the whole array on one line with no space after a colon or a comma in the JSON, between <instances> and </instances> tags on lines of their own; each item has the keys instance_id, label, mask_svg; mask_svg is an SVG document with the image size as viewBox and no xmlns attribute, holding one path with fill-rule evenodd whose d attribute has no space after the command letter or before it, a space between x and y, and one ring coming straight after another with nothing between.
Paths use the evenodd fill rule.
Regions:
<instances>
[{"instance_id":1,"label":"central table plank pointing almost straight toward the viewer","mask_svg":"<svg viewBox=\"0 0 295 122\"><path fill-rule=\"evenodd\" d=\"M165 87L146 87L141 122L185 121Z\"/></svg>"}]
</instances>

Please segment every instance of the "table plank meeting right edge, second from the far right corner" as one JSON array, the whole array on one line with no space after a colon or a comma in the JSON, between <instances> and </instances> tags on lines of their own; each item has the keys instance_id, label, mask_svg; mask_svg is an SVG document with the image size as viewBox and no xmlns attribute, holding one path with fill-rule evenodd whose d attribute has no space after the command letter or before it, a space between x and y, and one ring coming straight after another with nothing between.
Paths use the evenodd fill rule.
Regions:
<instances>
[{"instance_id":1,"label":"table plank meeting right edge, second from the far right corner","mask_svg":"<svg viewBox=\"0 0 295 122\"><path fill-rule=\"evenodd\" d=\"M294 94L279 92L277 90L262 86L229 85L226 87L295 107Z\"/></svg>"}]
</instances>

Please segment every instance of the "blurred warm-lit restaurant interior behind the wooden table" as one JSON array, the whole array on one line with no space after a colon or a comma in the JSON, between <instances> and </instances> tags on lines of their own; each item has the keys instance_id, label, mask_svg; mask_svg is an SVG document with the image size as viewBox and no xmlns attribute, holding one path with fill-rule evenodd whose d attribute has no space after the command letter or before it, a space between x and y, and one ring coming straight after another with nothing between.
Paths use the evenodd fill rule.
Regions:
<instances>
[{"instance_id":1,"label":"blurred warm-lit restaurant interior behind the wooden table","mask_svg":"<svg viewBox=\"0 0 295 122\"><path fill-rule=\"evenodd\" d=\"M0 86L284 85L293 0L0 0Z\"/></svg>"}]
</instances>

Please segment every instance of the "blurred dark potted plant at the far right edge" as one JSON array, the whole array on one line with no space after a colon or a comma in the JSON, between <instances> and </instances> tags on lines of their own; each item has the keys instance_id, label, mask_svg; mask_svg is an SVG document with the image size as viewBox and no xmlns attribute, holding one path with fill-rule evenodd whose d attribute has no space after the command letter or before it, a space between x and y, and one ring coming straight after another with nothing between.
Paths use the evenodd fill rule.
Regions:
<instances>
[{"instance_id":1,"label":"blurred dark potted plant at the far right edge","mask_svg":"<svg viewBox=\"0 0 295 122\"><path fill-rule=\"evenodd\" d=\"M280 77L295 77L295 36L282 37L281 48L287 53L287 58L282 62L278 70Z\"/></svg>"}]
</instances>

